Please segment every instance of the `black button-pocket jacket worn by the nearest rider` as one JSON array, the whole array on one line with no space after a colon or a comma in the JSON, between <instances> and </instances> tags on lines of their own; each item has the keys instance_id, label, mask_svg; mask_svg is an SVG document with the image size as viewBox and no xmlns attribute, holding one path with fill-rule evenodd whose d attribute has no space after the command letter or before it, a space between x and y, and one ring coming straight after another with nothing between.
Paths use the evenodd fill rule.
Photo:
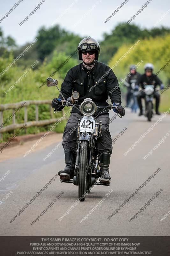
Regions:
<instances>
[{"instance_id":1,"label":"black button-pocket jacket worn by the nearest rider","mask_svg":"<svg viewBox=\"0 0 170 256\"><path fill-rule=\"evenodd\" d=\"M95 62L95 66L90 72L83 66L83 63L70 68L61 85L61 92L67 99L73 91L80 94L78 103L81 103L85 98L91 98L96 105L107 106L106 101L110 96L112 103L121 104L121 91L117 77L111 68L99 61ZM63 100L61 94L58 98ZM74 108L71 113L79 112Z\"/></svg>"}]
</instances>

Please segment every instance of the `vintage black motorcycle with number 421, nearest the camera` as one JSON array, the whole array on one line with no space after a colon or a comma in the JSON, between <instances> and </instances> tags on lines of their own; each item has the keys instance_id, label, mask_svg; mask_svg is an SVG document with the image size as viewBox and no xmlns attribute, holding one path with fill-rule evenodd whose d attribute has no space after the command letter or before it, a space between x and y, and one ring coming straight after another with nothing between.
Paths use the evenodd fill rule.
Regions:
<instances>
[{"instance_id":1,"label":"vintage black motorcycle with number 421, nearest the camera","mask_svg":"<svg viewBox=\"0 0 170 256\"><path fill-rule=\"evenodd\" d=\"M47 86L57 86L56 79L47 78ZM60 90L59 90L60 92ZM62 93L60 92L63 97ZM92 99L85 99L80 105L77 104L79 98L78 92L73 92L67 100L62 100L62 105L72 108L78 108L82 113L77 127L77 143L76 143L76 161L74 176L70 179L70 174L60 174L60 181L73 183L78 186L78 198L80 201L85 200L87 193L90 193L91 188L96 185L109 186L110 180L100 178L99 166L104 166L105 163L100 162L98 154L97 139L102 136L102 122L97 123L97 116L93 118L97 109L104 112L108 109L117 109L116 106L108 105L107 107L99 107ZM56 112L56 109L54 109ZM99 115L99 114L98 114ZM122 118L122 116L119 116ZM104 162L104 161L103 161Z\"/></svg>"}]
</instances>

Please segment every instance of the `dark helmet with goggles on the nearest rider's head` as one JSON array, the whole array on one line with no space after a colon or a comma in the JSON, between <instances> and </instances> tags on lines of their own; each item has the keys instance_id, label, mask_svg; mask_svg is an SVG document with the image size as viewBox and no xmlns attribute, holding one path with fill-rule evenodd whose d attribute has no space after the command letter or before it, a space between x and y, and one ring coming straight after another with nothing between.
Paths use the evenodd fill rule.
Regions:
<instances>
[{"instance_id":1,"label":"dark helmet with goggles on the nearest rider's head","mask_svg":"<svg viewBox=\"0 0 170 256\"><path fill-rule=\"evenodd\" d=\"M96 39L91 36L85 37L78 44L78 56L79 60L82 60L82 52L92 51L95 52L95 60L98 60L100 55L100 45Z\"/></svg>"}]
</instances>

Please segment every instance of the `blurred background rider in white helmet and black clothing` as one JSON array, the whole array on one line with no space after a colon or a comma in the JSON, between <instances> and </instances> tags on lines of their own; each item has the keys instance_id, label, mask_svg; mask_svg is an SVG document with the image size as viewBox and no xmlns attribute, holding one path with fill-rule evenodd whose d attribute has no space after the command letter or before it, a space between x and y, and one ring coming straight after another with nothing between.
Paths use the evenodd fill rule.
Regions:
<instances>
[{"instance_id":1,"label":"blurred background rider in white helmet and black clothing","mask_svg":"<svg viewBox=\"0 0 170 256\"><path fill-rule=\"evenodd\" d=\"M153 97L156 99L156 104L155 104L155 111L157 115L160 115L160 112L158 110L159 108L159 101L160 101L160 95L157 91L155 91L156 86L159 84L160 85L160 90L164 88L164 85L162 84L162 81L158 78L157 75L153 74L153 64L152 63L146 63L144 66L144 71L145 73L139 77L137 80L137 86L136 88L139 88L139 85L141 85L142 89L145 89L146 85L154 85L154 92L153 92ZM141 91L137 95L137 102L140 108L140 113L139 116L143 115L143 110L142 110L142 101L141 99L145 97L145 92Z\"/></svg>"}]
</instances>

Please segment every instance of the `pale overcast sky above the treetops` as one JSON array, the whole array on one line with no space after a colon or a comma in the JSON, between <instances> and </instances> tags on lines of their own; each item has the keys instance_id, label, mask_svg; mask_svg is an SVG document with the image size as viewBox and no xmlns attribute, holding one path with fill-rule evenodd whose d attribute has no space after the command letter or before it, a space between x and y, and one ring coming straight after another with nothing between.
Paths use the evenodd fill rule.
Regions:
<instances>
[{"instance_id":1,"label":"pale overcast sky above the treetops","mask_svg":"<svg viewBox=\"0 0 170 256\"><path fill-rule=\"evenodd\" d=\"M114 17L105 23L124 0L23 0L11 13L9 10L19 0L0 1L0 28L4 36L12 36L18 45L32 42L42 26L49 28L56 24L82 38L91 36L102 40L104 33L110 33L119 22L127 22L147 2L126 0ZM34 14L31 15L33 10ZM3 16L8 17L2 20ZM130 24L134 23L141 28L153 28L159 19L157 27L170 27L170 1L148 0L147 7L143 7L141 13L135 16ZM27 21L20 26L19 23L26 17Z\"/></svg>"}]
</instances>

